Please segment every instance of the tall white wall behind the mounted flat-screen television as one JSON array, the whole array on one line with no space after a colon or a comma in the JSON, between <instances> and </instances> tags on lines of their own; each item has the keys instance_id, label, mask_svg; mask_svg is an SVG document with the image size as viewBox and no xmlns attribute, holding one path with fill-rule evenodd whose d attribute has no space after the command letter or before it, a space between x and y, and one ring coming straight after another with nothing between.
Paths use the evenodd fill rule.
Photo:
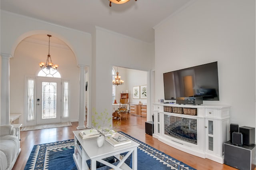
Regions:
<instances>
[{"instance_id":1,"label":"tall white wall behind the mounted flat-screen television","mask_svg":"<svg viewBox=\"0 0 256 170\"><path fill-rule=\"evenodd\" d=\"M163 73L218 61L220 101L230 123L255 127L255 0L196 0L155 28L156 100ZM157 101L155 101L157 102Z\"/></svg>"}]
</instances>

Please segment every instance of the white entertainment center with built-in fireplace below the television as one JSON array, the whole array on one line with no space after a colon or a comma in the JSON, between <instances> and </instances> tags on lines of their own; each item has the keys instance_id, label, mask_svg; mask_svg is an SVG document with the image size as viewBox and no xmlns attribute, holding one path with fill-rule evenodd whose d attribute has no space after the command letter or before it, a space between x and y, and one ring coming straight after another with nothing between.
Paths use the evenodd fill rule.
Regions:
<instances>
[{"instance_id":1,"label":"white entertainment center with built-in fireplace below the television","mask_svg":"<svg viewBox=\"0 0 256 170\"><path fill-rule=\"evenodd\" d=\"M153 105L154 138L195 156L224 163L224 142L229 140L230 106ZM196 114L180 114L174 109L191 109Z\"/></svg>"}]
</instances>

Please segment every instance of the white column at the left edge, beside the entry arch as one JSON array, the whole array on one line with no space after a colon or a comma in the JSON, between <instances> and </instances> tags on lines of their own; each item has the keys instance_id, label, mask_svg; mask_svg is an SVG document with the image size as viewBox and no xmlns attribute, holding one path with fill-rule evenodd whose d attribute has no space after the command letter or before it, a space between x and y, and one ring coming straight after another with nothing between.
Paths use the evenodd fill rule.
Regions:
<instances>
[{"instance_id":1,"label":"white column at the left edge, beside the entry arch","mask_svg":"<svg viewBox=\"0 0 256 170\"><path fill-rule=\"evenodd\" d=\"M10 58L12 55L1 53L1 124L10 124Z\"/></svg>"}]
</instances>

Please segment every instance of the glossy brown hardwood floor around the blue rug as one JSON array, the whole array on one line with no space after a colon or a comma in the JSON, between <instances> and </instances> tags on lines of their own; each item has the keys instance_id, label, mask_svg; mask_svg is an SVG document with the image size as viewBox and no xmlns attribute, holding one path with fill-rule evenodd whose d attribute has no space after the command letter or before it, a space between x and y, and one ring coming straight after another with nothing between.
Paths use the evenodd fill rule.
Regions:
<instances>
[{"instance_id":1,"label":"glossy brown hardwood floor around the blue rug","mask_svg":"<svg viewBox=\"0 0 256 170\"><path fill-rule=\"evenodd\" d=\"M180 160L185 164L192 166L193 168L196 168L198 170L235 170L235 168L232 168L225 164L219 164L209 159L199 158L197 156L193 156L178 149L172 148L171 146L168 146L158 141L156 138L153 138L152 136L146 134L145 117L137 117L128 114L128 121L126 121L126 119L122 119L122 121L114 119L113 125L116 121L119 121L121 125L119 125L118 127L114 127L115 130L125 132L126 134L129 134L134 138L145 142L146 144L176 158L177 160ZM12 170L24 169L34 145L74 139L74 134L72 131L77 130L76 127L78 127L78 122L72 122L72 126L70 127L21 131L21 152ZM150 167L147 167L145 169L150 170Z\"/></svg>"}]
</instances>

